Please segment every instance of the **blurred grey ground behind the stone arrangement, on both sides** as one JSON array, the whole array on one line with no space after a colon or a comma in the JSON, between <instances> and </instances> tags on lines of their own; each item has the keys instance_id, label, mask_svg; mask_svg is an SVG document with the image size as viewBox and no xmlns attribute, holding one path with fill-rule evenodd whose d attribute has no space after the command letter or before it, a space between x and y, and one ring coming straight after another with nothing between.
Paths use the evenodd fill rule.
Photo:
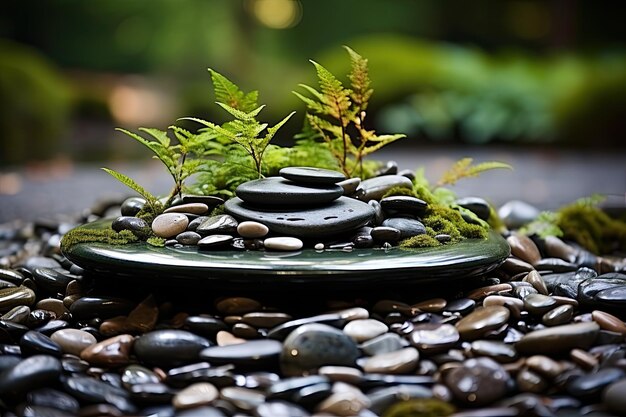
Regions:
<instances>
[{"instance_id":1,"label":"blurred grey ground behind the stone arrangement, on both sides","mask_svg":"<svg viewBox=\"0 0 626 417\"><path fill-rule=\"evenodd\" d=\"M459 196L480 196L496 207L512 199L524 200L540 209L594 193L607 195L608 203L626 205L626 151L528 148L425 148L395 145L379 151L380 160L395 160L400 169L424 167L426 177L436 181L462 157L475 162L497 160L513 171L487 172L461 180L454 190ZM156 162L104 164L118 169L153 193L169 191L170 180ZM45 165L0 169L0 223L12 220L58 218L79 213L98 199L129 195L129 191L100 165L57 161Z\"/></svg>"}]
</instances>

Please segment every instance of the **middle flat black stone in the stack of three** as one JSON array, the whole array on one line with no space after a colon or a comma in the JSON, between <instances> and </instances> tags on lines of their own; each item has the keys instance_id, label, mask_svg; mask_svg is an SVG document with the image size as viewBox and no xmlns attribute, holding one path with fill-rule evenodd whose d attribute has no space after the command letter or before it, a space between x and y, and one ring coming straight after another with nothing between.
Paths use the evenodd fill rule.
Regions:
<instances>
[{"instance_id":1,"label":"middle flat black stone in the stack of three","mask_svg":"<svg viewBox=\"0 0 626 417\"><path fill-rule=\"evenodd\" d=\"M248 181L235 194L246 204L257 206L306 206L327 204L343 195L336 184L298 184L280 177Z\"/></svg>"}]
</instances>

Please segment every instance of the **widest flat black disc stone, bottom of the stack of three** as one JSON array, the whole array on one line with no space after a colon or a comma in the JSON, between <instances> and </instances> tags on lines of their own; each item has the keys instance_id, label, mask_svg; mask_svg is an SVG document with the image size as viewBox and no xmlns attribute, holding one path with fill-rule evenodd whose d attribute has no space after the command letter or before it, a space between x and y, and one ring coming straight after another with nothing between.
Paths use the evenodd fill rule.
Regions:
<instances>
[{"instance_id":1,"label":"widest flat black disc stone, bottom of the stack of three","mask_svg":"<svg viewBox=\"0 0 626 417\"><path fill-rule=\"evenodd\" d=\"M374 209L359 200L340 197L321 207L264 208L235 197L224 204L239 220L263 223L274 233L303 238L325 238L357 229L374 217Z\"/></svg>"}]
</instances>

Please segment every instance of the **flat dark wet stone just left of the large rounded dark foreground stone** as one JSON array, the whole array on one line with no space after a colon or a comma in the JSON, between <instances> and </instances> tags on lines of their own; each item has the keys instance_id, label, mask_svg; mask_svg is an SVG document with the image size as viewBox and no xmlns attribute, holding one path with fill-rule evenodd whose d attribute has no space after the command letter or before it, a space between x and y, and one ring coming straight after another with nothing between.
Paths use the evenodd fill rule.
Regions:
<instances>
[{"instance_id":1,"label":"flat dark wet stone just left of the large rounded dark foreground stone","mask_svg":"<svg viewBox=\"0 0 626 417\"><path fill-rule=\"evenodd\" d=\"M282 343L276 340L251 340L227 346L212 346L200 352L200 358L211 364L231 363L236 367L264 366L273 369L278 365Z\"/></svg>"}]
</instances>

